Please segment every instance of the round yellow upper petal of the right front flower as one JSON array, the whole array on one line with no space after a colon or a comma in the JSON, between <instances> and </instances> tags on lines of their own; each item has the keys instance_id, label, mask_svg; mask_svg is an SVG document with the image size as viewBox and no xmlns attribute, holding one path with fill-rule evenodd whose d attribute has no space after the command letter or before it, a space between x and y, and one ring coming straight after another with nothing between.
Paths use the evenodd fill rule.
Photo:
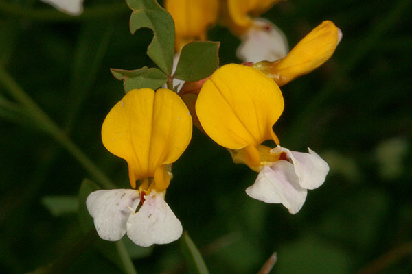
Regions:
<instances>
[{"instance_id":1,"label":"round yellow upper petal of the right front flower","mask_svg":"<svg viewBox=\"0 0 412 274\"><path fill-rule=\"evenodd\" d=\"M250 66L227 64L199 92L196 114L207 135L227 149L258 147L273 134L284 109L273 80ZM273 135L272 135L273 134Z\"/></svg>"}]
</instances>

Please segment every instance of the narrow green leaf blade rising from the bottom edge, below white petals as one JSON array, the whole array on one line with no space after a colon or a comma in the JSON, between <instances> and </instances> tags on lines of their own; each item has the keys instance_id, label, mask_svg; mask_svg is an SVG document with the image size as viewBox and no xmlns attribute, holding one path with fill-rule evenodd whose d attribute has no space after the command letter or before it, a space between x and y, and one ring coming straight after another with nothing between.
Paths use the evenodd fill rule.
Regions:
<instances>
[{"instance_id":1,"label":"narrow green leaf blade rising from the bottom edge, below white petals","mask_svg":"<svg viewBox=\"0 0 412 274\"><path fill-rule=\"evenodd\" d=\"M183 232L183 235L181 237L181 250L183 252L183 255L185 256L189 273L209 274L201 253L198 251L196 245L194 245L194 242L190 238L189 234L187 234L187 232Z\"/></svg>"}]
</instances>

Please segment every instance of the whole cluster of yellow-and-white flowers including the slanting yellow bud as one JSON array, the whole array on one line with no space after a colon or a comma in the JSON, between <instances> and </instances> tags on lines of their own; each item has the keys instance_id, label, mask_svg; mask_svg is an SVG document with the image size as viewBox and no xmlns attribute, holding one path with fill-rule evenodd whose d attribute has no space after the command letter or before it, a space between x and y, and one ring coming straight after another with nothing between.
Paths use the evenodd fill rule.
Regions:
<instances>
[{"instance_id":1,"label":"whole cluster of yellow-and-white flowers including the slanting yellow bud","mask_svg":"<svg viewBox=\"0 0 412 274\"><path fill-rule=\"evenodd\" d=\"M176 21L176 48L181 49L189 41L206 39L207 26L217 20L218 10L230 15L221 15L221 20L233 32L249 35L257 23L248 14L260 14L275 2L169 0L165 5ZM198 23L179 21L182 6L191 11L183 15L190 14L188 19ZM199 15L202 12L205 16ZM206 79L185 82L179 93L166 88L128 91L106 116L102 142L126 160L131 189L98 190L89 195L87 209L99 236L119 240L127 234L144 247L181 236L182 225L165 202L165 194L173 177L172 163L190 142L192 119L229 151L233 162L258 172L247 195L282 203L291 214L299 212L307 190L323 184L329 166L309 148L302 153L280 146L273 131L284 111L279 86L328 60L341 36L332 22L325 21L283 58L221 66ZM262 145L266 140L276 146Z\"/></svg>"}]
</instances>

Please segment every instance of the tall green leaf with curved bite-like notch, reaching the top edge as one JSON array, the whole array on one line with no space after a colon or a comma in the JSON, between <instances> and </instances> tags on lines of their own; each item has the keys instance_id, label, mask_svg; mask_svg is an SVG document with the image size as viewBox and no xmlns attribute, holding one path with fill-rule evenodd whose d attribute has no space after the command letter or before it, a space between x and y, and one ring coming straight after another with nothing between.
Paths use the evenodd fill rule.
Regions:
<instances>
[{"instance_id":1,"label":"tall green leaf with curved bite-like notch, reaching the top edge","mask_svg":"<svg viewBox=\"0 0 412 274\"><path fill-rule=\"evenodd\" d=\"M153 31L153 40L148 47L148 56L166 74L172 74L174 54L174 21L155 0L126 0L133 10L130 16L130 32L141 27Z\"/></svg>"}]
</instances>

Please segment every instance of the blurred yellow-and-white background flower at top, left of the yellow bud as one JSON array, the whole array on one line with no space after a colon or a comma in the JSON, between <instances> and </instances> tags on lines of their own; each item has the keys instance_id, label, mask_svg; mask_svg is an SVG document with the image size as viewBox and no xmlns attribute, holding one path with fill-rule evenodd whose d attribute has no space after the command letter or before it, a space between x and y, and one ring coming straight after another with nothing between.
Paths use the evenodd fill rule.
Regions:
<instances>
[{"instance_id":1,"label":"blurred yellow-and-white background flower at top, left of the yellow bud","mask_svg":"<svg viewBox=\"0 0 412 274\"><path fill-rule=\"evenodd\" d=\"M220 23L242 41L236 55L243 62L275 61L288 53L284 33L271 21L258 18L279 0L220 1Z\"/></svg>"}]
</instances>

